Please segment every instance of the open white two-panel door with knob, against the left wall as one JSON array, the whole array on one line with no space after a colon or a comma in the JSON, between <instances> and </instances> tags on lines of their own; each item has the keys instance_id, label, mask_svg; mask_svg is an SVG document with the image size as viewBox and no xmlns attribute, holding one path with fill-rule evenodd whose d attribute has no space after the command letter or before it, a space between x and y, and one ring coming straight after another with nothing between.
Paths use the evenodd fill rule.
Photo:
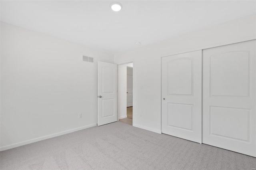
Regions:
<instances>
[{"instance_id":1,"label":"open white two-panel door with knob, against the left wall","mask_svg":"<svg viewBox=\"0 0 256 170\"><path fill-rule=\"evenodd\" d=\"M98 61L98 126L117 121L117 65Z\"/></svg>"}]
</instances>

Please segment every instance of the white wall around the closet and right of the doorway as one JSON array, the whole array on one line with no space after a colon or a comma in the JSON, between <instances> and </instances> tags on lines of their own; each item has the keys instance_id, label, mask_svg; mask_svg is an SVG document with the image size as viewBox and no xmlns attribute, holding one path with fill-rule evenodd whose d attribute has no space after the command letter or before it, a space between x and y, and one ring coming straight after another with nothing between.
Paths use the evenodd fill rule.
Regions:
<instances>
[{"instance_id":1,"label":"white wall around the closet and right of the doorway","mask_svg":"<svg viewBox=\"0 0 256 170\"><path fill-rule=\"evenodd\" d=\"M161 132L161 55L204 49L256 38L255 15L115 55L134 61L134 126ZM143 42L142 42L143 43Z\"/></svg>"}]
</instances>

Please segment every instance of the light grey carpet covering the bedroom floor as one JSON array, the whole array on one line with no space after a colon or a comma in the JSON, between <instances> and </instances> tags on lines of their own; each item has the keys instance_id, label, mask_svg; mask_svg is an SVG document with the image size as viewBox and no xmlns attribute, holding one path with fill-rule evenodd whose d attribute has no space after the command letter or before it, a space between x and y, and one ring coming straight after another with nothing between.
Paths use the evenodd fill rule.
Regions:
<instances>
[{"instance_id":1,"label":"light grey carpet covering the bedroom floor","mask_svg":"<svg viewBox=\"0 0 256 170\"><path fill-rule=\"evenodd\" d=\"M256 158L116 122L0 152L0 169L248 169Z\"/></svg>"}]
</instances>

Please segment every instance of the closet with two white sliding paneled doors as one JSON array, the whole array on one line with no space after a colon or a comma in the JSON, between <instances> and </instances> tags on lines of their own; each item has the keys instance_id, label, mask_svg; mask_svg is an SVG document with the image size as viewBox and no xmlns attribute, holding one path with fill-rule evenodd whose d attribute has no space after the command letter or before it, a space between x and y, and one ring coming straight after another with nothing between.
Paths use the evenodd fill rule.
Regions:
<instances>
[{"instance_id":1,"label":"closet with two white sliding paneled doors","mask_svg":"<svg viewBox=\"0 0 256 170\"><path fill-rule=\"evenodd\" d=\"M162 57L162 133L256 157L256 40Z\"/></svg>"}]
</instances>

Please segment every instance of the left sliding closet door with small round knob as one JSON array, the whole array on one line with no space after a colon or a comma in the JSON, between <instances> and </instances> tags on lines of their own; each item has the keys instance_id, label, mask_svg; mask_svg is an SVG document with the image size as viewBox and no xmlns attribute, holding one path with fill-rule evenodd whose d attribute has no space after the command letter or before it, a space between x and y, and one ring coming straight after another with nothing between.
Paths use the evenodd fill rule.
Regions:
<instances>
[{"instance_id":1,"label":"left sliding closet door with small round knob","mask_svg":"<svg viewBox=\"0 0 256 170\"><path fill-rule=\"evenodd\" d=\"M202 50L162 57L162 133L202 143Z\"/></svg>"}]
</instances>

